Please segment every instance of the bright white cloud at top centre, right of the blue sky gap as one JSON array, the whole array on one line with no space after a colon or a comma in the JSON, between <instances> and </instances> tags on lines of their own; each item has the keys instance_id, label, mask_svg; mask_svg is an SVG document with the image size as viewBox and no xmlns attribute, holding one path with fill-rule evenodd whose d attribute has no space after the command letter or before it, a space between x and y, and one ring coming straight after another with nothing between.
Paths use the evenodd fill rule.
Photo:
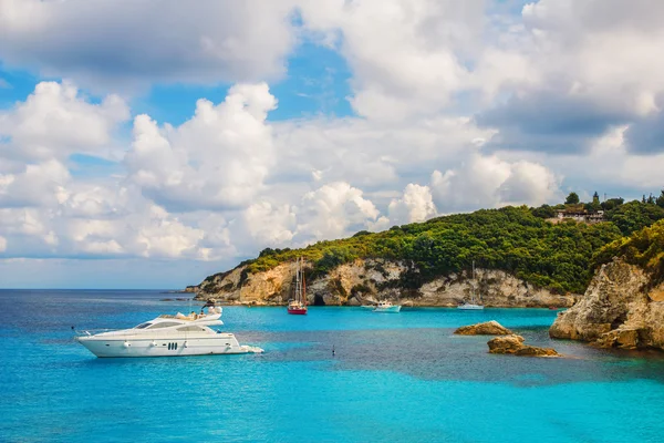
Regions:
<instances>
[{"instance_id":1,"label":"bright white cloud at top centre, right of the blue sky gap","mask_svg":"<svg viewBox=\"0 0 664 443\"><path fill-rule=\"evenodd\" d=\"M463 83L484 1L301 1L304 25L341 35L351 64L351 103L364 116L397 121L440 110ZM330 39L328 39L329 41Z\"/></svg>"}]
</instances>

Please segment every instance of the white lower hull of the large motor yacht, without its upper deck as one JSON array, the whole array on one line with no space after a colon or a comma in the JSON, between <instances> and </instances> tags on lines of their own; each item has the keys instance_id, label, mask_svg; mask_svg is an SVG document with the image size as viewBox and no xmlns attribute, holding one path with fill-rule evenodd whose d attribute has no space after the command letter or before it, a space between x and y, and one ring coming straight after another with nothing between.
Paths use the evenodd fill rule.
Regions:
<instances>
[{"instance_id":1,"label":"white lower hull of the large motor yacht, without its upper deck","mask_svg":"<svg viewBox=\"0 0 664 443\"><path fill-rule=\"evenodd\" d=\"M77 337L76 341L100 358L110 357L183 357L257 352L257 348L240 346L234 334L212 338L104 339Z\"/></svg>"}]
</instances>

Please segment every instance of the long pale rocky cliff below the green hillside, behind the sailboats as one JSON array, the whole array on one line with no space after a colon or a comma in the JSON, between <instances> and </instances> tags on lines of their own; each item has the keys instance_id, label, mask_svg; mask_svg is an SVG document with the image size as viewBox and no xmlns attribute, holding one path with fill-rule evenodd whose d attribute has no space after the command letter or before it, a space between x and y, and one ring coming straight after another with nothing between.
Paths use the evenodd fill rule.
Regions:
<instances>
[{"instance_id":1,"label":"long pale rocky cliff below the green hillside, behind the sailboats","mask_svg":"<svg viewBox=\"0 0 664 443\"><path fill-rule=\"evenodd\" d=\"M413 306L455 307L469 300L473 292L473 280L466 272L440 276L424 285L407 285L411 288L406 289L403 281L408 272L402 261L357 259L338 266L325 276L308 277L309 303L357 306L390 299ZM286 303L291 297L294 275L293 262L257 274L248 274L245 267L239 267L187 290L196 292L199 299L279 305ZM579 297L559 296L547 289L535 288L499 270L477 269L476 280L477 293L481 295L488 307L570 307Z\"/></svg>"}]
</instances>

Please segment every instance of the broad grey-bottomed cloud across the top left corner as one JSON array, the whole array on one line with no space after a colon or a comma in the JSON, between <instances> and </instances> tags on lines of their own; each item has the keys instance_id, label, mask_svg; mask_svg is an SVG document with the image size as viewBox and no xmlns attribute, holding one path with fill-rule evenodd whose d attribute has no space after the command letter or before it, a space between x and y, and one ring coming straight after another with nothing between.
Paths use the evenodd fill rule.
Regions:
<instances>
[{"instance_id":1,"label":"broad grey-bottomed cloud across the top left corner","mask_svg":"<svg viewBox=\"0 0 664 443\"><path fill-rule=\"evenodd\" d=\"M0 0L0 10L7 63L102 91L274 79L295 42L291 1Z\"/></svg>"}]
</instances>

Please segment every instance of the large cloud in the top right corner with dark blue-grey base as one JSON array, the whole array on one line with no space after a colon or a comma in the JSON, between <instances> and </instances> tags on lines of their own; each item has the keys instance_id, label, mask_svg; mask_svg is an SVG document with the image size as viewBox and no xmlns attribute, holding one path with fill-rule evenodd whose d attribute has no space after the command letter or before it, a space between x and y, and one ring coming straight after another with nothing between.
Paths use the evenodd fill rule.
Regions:
<instances>
[{"instance_id":1,"label":"large cloud in the top right corner with dark blue-grey base","mask_svg":"<svg viewBox=\"0 0 664 443\"><path fill-rule=\"evenodd\" d=\"M526 4L518 38L502 50L529 61L529 80L512 82L504 90L509 100L478 113L481 125L499 130L492 146L579 152L615 126L650 127L664 91L664 62L655 55L664 32L654 19L662 13L655 1ZM652 144L633 138L636 150Z\"/></svg>"}]
</instances>

